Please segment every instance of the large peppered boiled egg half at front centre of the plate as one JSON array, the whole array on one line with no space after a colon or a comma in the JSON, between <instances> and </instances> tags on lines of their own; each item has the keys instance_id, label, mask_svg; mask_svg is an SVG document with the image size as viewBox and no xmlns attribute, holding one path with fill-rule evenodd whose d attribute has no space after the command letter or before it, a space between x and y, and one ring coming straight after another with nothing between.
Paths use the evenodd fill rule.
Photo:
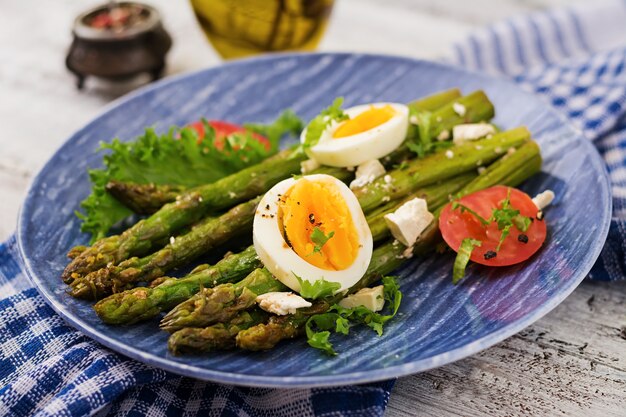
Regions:
<instances>
[{"instance_id":1,"label":"large peppered boiled egg half at front centre of the plate","mask_svg":"<svg viewBox=\"0 0 626 417\"><path fill-rule=\"evenodd\" d=\"M346 290L372 258L372 233L358 200L330 175L290 178L272 187L259 203L252 236L265 267L297 292L296 275L311 283L338 282L337 292Z\"/></svg>"}]
</instances>

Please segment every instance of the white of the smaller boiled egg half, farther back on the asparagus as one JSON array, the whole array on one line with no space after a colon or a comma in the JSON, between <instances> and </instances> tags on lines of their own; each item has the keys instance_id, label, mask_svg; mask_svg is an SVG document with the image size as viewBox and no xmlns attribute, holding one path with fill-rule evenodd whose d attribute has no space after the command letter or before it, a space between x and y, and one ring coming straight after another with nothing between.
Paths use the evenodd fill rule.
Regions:
<instances>
[{"instance_id":1,"label":"white of the smaller boiled egg half, farther back on the asparagus","mask_svg":"<svg viewBox=\"0 0 626 417\"><path fill-rule=\"evenodd\" d=\"M409 108L399 103L372 103L351 107L344 113L354 118L371 106L376 108L391 106L396 114L370 130L335 139L333 134L342 123L331 124L320 137L319 142L307 150L310 158L323 165L334 167L352 167L372 159L380 159L393 152L402 144L409 128ZM306 129L300 136L304 143Z\"/></svg>"}]
</instances>

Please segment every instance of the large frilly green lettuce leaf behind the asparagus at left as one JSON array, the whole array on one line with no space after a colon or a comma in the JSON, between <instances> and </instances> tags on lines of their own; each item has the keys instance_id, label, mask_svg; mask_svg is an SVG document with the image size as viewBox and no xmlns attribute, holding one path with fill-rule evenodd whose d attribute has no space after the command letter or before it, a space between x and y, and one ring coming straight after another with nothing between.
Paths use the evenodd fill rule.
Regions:
<instances>
[{"instance_id":1,"label":"large frilly green lettuce leaf behind the asparagus at left","mask_svg":"<svg viewBox=\"0 0 626 417\"><path fill-rule=\"evenodd\" d=\"M82 220L81 231L91 233L94 242L132 214L106 192L105 186L111 180L188 187L211 183L272 155L277 150L278 135L295 130L297 125L295 115L283 113L266 126L265 133L272 143L270 151L249 133L230 135L221 141L222 150L218 150L215 130L203 122L205 136L200 144L195 129L177 127L164 134L148 128L131 142L114 139L101 143L97 150L108 152L103 156L104 168L89 171L92 192L80 203L82 212L76 212ZM254 129L263 130L261 126L255 125Z\"/></svg>"}]
</instances>

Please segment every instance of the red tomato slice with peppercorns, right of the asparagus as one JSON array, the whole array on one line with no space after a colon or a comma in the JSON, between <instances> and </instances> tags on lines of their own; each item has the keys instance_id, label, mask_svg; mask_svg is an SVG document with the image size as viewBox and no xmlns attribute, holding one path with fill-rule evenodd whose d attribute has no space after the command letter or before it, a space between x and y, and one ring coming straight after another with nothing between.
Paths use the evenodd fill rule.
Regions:
<instances>
[{"instance_id":1,"label":"red tomato slice with peppercorns, right of the asparagus","mask_svg":"<svg viewBox=\"0 0 626 417\"><path fill-rule=\"evenodd\" d=\"M468 211L452 209L452 203L444 207L439 217L439 229L446 243L458 251L465 238L480 240L482 245L475 247L470 259L489 266L513 265L530 258L546 240L546 222L537 219L539 210L530 196L520 190L501 185L477 191L458 200L465 207L478 213L484 219L491 217L492 211L501 208L510 190L511 208L519 210L522 216L532 222L526 232L512 226L500 250L496 252L502 231L495 221L484 226L481 221ZM521 236L520 236L521 235ZM492 252L485 257L487 252ZM493 255L496 252L496 256Z\"/></svg>"}]
</instances>

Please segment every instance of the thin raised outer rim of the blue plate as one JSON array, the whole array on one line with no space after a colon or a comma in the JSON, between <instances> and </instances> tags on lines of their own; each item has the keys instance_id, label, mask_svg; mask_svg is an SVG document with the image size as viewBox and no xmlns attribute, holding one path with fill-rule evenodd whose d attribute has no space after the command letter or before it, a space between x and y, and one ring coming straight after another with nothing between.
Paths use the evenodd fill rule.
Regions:
<instances>
[{"instance_id":1,"label":"thin raised outer rim of the blue plate","mask_svg":"<svg viewBox=\"0 0 626 417\"><path fill-rule=\"evenodd\" d=\"M227 63L222 63L220 65L211 66L208 68L202 68L195 71L185 72L182 74L176 74L169 77L166 77L160 81L155 83L148 84L144 87L141 87L135 91L132 91L128 94L125 94L111 103L105 105L102 110L91 118L83 127L77 129L73 134L71 134L51 155L50 158L46 161L43 167L38 171L37 175L35 175L30 181L27 192L25 194L24 200L19 210L18 214L18 223L17 223L17 247L19 250L19 254L22 260L22 263L25 267L26 276L29 278L33 286L37 289L39 294L44 298L46 303L57 313L59 314L71 327L80 331L81 333L87 335L91 339L101 343L102 345L111 348L112 350L121 353L124 356L127 356L131 359L138 360L147 364L149 366L158 367L160 369L182 375L187 377L193 377L197 379L201 379L204 381L212 381L224 384L232 384L238 386L248 386L248 387L265 387L265 388L313 388L313 387L331 387L331 386L340 386L340 385L352 385L352 384L364 384L371 383L377 381L383 381L391 378L398 378L402 376L407 376L419 372L424 372L433 368L437 368L457 360L466 358L468 356L474 355L482 350L485 350L497 343L500 343L504 339L520 332L525 327L531 325L535 321L539 320L550 311L552 311L556 306L558 306L567 296L569 296L574 289L578 287L578 285L582 282L582 280L589 274L591 268L594 263L600 256L603 245L597 245L593 251L588 252L591 256L587 256L586 262L584 262L581 267L576 271L578 274L576 279L571 280L567 286L563 287L559 294L555 297L552 297L547 303L542 305L540 308L536 309L534 312L528 314L523 319L516 320L513 324L507 325L506 327L489 333L471 343L465 344L456 349L439 353L434 356L430 356L428 358L419 359L416 361L408 362L402 365L394 365L390 367L380 368L375 371L361 371L361 372L350 372L344 373L340 375L316 375L316 376L263 376L263 375L246 375L240 373L233 372L225 372L225 371L216 371L213 369L202 368L195 365L187 365L181 362L171 361L167 357L157 356L151 353L143 352L139 349L133 348L132 346L128 346L125 343L122 343L114 338L111 338L105 334L100 333L97 329L92 328L89 323L82 322L79 317L75 317L75 315L68 311L64 305L57 302L54 294L49 293L43 282L39 279L37 274L35 274L33 270L33 266L30 260L27 258L24 251L24 234L25 228L28 223L28 219L26 219L26 211L28 202L31 200L32 195L35 192L35 185L38 184L42 178L44 172L50 168L50 164L54 157L61 152L65 146L69 146L69 143L77 136L80 136L85 130L91 128L91 126L97 123L103 116L107 113L111 112L118 106L125 104L126 102L134 100L136 97L140 97L145 94L149 94L153 90L157 90L163 88L172 83L176 83L179 80L184 80L186 78L192 78L197 76L198 74L204 72L210 72L213 70L223 70L224 68L229 68L232 66L240 66L240 65L250 65L254 62L266 61L266 60L280 60L283 58L289 57L318 57L323 58L326 56L330 57L364 57L369 59L384 59L384 60L398 60L403 61L409 64L418 64L418 65L429 65L434 67L439 67L443 70L454 70L457 72L463 72L467 75L477 77L480 79L489 82L490 80L496 79L500 83L506 83L510 87L518 90L519 93L533 97L534 99L540 99L534 94L531 94L519 87L519 85L514 82L504 78L493 75L487 75L478 73L475 71L466 70L464 68L455 67L452 65L448 65L441 62L434 62L425 59L419 58L411 58L406 56L398 56L391 54L375 54L375 53L350 53L350 52L316 52L316 53L275 53L268 54L258 57L252 57L247 59L240 59L236 61L230 61ZM598 233L598 237L602 238L602 240L606 241L606 237L608 236L609 226L611 222L611 213L612 213L612 189L610 186L610 177L608 174L608 170L606 164L604 163L602 157L600 156L598 150L593 146L592 142L585 138L583 133L572 125L571 121L567 119L565 115L561 112L557 111L550 103L543 102L546 110L551 112L560 122L565 125L570 126L576 133L576 141L582 142L583 151L587 153L591 157L592 165L597 168L598 172L603 174L603 178L601 183L601 188L604 193L606 193L608 204L604 205L604 212L602 213L602 218L604 222L600 228L600 232Z\"/></svg>"}]
</instances>

